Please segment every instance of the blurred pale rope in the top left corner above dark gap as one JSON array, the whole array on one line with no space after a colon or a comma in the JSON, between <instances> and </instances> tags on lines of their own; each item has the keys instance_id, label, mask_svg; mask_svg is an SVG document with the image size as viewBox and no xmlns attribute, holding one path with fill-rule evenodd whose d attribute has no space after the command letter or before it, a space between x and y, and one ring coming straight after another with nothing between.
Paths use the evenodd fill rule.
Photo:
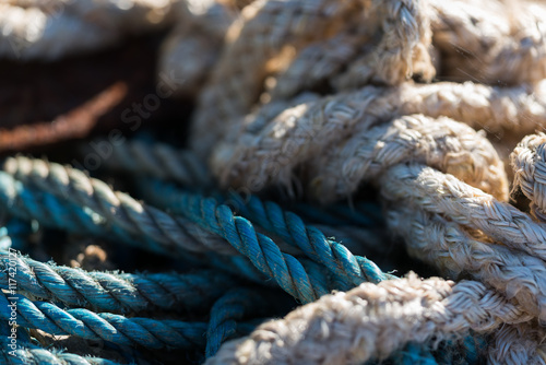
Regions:
<instances>
[{"instance_id":1,"label":"blurred pale rope in the top left corner above dark gap","mask_svg":"<svg viewBox=\"0 0 546 365\"><path fill-rule=\"evenodd\" d=\"M19 0L0 4L0 56L52 60L170 22L174 1Z\"/></svg>"}]
</instances>

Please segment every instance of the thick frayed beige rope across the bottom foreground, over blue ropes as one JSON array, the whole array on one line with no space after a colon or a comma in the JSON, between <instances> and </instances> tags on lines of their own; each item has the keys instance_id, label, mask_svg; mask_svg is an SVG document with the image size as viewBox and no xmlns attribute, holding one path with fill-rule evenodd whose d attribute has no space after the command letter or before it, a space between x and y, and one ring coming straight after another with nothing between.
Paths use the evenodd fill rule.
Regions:
<instances>
[{"instance_id":1,"label":"thick frayed beige rope across the bottom foreground, over blue ropes","mask_svg":"<svg viewBox=\"0 0 546 365\"><path fill-rule=\"evenodd\" d=\"M410 275L325 295L226 343L207 364L356 364L385 358L410 341L453 339L531 318L479 282Z\"/></svg>"}]
</instances>

